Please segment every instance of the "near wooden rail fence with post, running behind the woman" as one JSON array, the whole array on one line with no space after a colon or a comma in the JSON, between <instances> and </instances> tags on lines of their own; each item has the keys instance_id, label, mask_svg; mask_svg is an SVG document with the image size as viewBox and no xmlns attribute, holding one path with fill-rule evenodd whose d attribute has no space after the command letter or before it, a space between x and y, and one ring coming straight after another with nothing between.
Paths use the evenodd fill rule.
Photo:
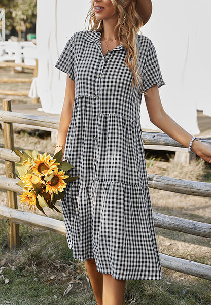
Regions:
<instances>
[{"instance_id":1,"label":"near wooden rail fence with post, running behind the woman","mask_svg":"<svg viewBox=\"0 0 211 305\"><path fill-rule=\"evenodd\" d=\"M8 200L7 207L0 205L0 218L8 220L10 249L19 245L19 224L37 226L65 235L63 221L18 211L16 194L20 193L22 189L16 185L16 182L19 180L15 178L14 162L19 161L19 157L12 152L14 148L12 122L58 129L59 119L11 112L10 100L3 100L3 111L0 112L0 121L4 122L5 137L5 148L0 148L0 159L5 160L7 176L1 177L0 189L7 190ZM211 145L210 139L200 140ZM143 132L143 141L144 144L183 147L180 143L163 133ZM149 187L155 189L192 196L211 197L211 183L175 179L160 175L148 175L148 184ZM153 218L156 227L211 238L211 224L157 212L153 212ZM165 268L211 280L210 265L163 253L159 253L159 255L161 265Z\"/></svg>"}]
</instances>

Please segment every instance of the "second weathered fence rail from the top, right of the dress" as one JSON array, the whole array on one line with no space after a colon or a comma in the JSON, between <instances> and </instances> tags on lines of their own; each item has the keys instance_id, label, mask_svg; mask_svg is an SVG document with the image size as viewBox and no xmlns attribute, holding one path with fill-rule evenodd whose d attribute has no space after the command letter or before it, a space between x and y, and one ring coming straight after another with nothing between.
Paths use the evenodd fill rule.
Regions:
<instances>
[{"instance_id":1,"label":"second weathered fence rail from the top, right of the dress","mask_svg":"<svg viewBox=\"0 0 211 305\"><path fill-rule=\"evenodd\" d=\"M211 183L148 175L148 186L154 189L187 195L211 197Z\"/></svg>"}]
</instances>

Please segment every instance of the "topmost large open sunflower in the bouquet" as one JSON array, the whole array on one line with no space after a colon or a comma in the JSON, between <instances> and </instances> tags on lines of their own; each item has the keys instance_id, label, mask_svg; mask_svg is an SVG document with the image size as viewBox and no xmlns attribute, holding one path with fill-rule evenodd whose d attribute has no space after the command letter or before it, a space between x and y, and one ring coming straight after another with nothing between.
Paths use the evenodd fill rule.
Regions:
<instances>
[{"instance_id":1,"label":"topmost large open sunflower in the bouquet","mask_svg":"<svg viewBox=\"0 0 211 305\"><path fill-rule=\"evenodd\" d=\"M47 176L53 173L57 165L56 159L50 160L51 155L47 155L45 152L43 155L38 155L37 159L34 159L35 165L31 167L31 170L34 174L38 176Z\"/></svg>"}]
</instances>

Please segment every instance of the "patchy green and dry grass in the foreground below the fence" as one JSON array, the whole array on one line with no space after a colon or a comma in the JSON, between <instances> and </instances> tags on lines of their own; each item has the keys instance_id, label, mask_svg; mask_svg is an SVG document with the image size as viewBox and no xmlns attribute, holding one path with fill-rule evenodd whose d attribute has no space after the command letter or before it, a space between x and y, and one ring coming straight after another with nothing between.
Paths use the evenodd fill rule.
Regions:
<instances>
[{"instance_id":1,"label":"patchy green and dry grass in the foreground below the fence","mask_svg":"<svg viewBox=\"0 0 211 305\"><path fill-rule=\"evenodd\" d=\"M73 258L65 236L33 228L23 230L25 235L18 250L2 249L3 266L1 262L0 266L4 278L0 276L0 304L96 304L84 263ZM24 242L26 235L27 243ZM165 268L162 271L162 280L127 280L125 304L210 304L209 281ZM8 284L5 279L9 280ZM63 295L71 280L75 280L71 291Z\"/></svg>"}]
</instances>

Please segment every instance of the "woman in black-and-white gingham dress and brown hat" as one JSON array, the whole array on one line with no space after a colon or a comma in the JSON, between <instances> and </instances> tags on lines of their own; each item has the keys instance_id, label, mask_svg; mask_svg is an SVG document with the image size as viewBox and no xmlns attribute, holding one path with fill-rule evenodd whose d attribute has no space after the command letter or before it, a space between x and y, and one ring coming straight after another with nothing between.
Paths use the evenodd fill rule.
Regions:
<instances>
[{"instance_id":1,"label":"woman in black-and-white gingham dress and brown hat","mask_svg":"<svg viewBox=\"0 0 211 305\"><path fill-rule=\"evenodd\" d=\"M80 177L62 200L67 241L85 261L98 305L122 305L126 279L162 279L139 120L143 92L151 122L211 162L211 147L163 110L155 48L137 35L151 13L151 0L92 0L92 30L76 32L55 65L67 73L56 152L63 148Z\"/></svg>"}]
</instances>

